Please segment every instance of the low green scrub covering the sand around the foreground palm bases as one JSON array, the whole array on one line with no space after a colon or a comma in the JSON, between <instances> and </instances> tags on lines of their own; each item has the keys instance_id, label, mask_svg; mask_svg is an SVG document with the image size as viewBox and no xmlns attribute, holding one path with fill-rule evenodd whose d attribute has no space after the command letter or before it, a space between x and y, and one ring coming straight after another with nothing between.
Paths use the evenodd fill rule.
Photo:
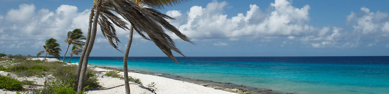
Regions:
<instances>
[{"instance_id":1,"label":"low green scrub covering the sand around the foreground palm bases","mask_svg":"<svg viewBox=\"0 0 389 94\"><path fill-rule=\"evenodd\" d=\"M27 60L27 56L16 55L7 56L7 60L11 61L8 66L0 66L0 71L7 71L18 75L19 77L45 77L52 75L54 80L48 80L44 84L43 89L33 90L33 94L77 94L74 91L76 82L76 65L66 65L63 62L47 62L40 60ZM1 57L0 57L1 58ZM8 64L8 63L7 63ZM96 71L88 68L84 82L84 89L100 87ZM7 76L0 77L0 88L7 90L21 90L23 85L33 85L34 81L23 80L19 82L16 79ZM81 92L80 94L84 94Z\"/></svg>"}]
</instances>

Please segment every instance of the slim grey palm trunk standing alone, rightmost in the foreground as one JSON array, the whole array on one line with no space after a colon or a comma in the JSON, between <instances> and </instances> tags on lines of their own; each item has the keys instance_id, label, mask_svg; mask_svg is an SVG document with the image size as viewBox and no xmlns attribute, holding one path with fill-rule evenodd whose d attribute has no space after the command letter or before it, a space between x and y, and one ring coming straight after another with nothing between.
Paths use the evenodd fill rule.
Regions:
<instances>
[{"instance_id":1,"label":"slim grey palm trunk standing alone, rightmost in the foreground","mask_svg":"<svg viewBox=\"0 0 389 94\"><path fill-rule=\"evenodd\" d=\"M124 86L126 87L126 94L130 94L130 84L128 83L128 68L127 68L127 59L128 52L130 52L131 44L132 44L132 34L134 31L134 27L130 28L130 36L128 37L126 52L124 52L123 57L123 72L124 72Z\"/></svg>"}]
</instances>

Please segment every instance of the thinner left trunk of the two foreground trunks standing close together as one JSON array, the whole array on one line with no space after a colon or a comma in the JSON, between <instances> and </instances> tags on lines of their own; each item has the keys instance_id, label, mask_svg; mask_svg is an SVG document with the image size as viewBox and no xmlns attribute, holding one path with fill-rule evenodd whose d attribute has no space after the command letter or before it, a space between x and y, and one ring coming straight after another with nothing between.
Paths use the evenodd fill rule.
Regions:
<instances>
[{"instance_id":1,"label":"thinner left trunk of the two foreground trunks standing close together","mask_svg":"<svg viewBox=\"0 0 389 94\"><path fill-rule=\"evenodd\" d=\"M89 27L88 27L88 35L86 35L86 40L85 40L85 45L84 45L84 50L82 50L80 60L78 62L78 68L77 68L77 80L75 82L75 87L74 91L77 91L78 88L78 82L80 78L80 73L81 73L81 68L82 68L82 62L84 61L84 56L86 53L86 49L88 48L89 40L91 38L91 30L92 30L92 22L93 22L93 16L95 15L95 10L92 8L91 14L89 15Z\"/></svg>"}]
</instances>

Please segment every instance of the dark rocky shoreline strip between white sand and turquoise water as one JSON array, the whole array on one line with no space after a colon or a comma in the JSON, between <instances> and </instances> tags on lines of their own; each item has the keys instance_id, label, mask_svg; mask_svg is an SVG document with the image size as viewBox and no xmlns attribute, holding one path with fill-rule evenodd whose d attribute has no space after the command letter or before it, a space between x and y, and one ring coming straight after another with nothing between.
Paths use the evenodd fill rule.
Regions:
<instances>
[{"instance_id":1,"label":"dark rocky shoreline strip between white sand and turquoise water","mask_svg":"<svg viewBox=\"0 0 389 94\"><path fill-rule=\"evenodd\" d=\"M96 65L91 65L91 66L96 66ZM107 67L107 66L96 66L98 68L106 69L106 70L116 70L116 71L121 71L123 72L123 69L121 68L113 68L113 67ZM128 70L128 72L133 72L133 73L140 73L144 75L154 75L158 77L165 77L165 78L170 78L173 80L180 80L184 82L189 82L197 85L202 85L204 87L210 87L213 89L217 90L223 90L223 91L228 91L228 92L233 92L233 93L238 93L238 94L293 94L293 93L280 93L280 92L275 92L272 91L271 89L257 89L254 87L245 87L244 85L237 85L233 84L230 82L214 82L212 80L199 80L199 79L192 79L192 78L185 78L185 77L180 77L176 75L170 75L166 73L156 73L156 72L149 72L149 71L137 71L137 70ZM129 75L131 76L131 75Z\"/></svg>"}]
</instances>

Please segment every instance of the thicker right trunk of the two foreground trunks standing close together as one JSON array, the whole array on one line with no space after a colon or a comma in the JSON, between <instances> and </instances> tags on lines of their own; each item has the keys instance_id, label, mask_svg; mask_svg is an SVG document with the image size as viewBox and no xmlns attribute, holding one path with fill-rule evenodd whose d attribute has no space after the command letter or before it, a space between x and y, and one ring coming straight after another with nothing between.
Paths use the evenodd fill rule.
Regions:
<instances>
[{"instance_id":1,"label":"thicker right trunk of the two foreground trunks standing close together","mask_svg":"<svg viewBox=\"0 0 389 94\"><path fill-rule=\"evenodd\" d=\"M91 51L93 49L93 44L95 43L96 31L97 31L97 22L98 22L98 17L100 15L101 3L102 3L101 0L97 0L96 1L96 5L97 5L95 7L96 15L93 18L93 28L92 28L92 32L91 32L91 38L89 40L88 48L87 48L85 56L84 56L84 61L82 61L83 63L82 63L82 68L81 68L81 72L80 72L80 78L79 78L79 82L78 82L77 93L81 92L82 88L83 88L84 78L85 78L85 73L86 73L86 67L88 66L89 54L91 54Z\"/></svg>"}]
</instances>

